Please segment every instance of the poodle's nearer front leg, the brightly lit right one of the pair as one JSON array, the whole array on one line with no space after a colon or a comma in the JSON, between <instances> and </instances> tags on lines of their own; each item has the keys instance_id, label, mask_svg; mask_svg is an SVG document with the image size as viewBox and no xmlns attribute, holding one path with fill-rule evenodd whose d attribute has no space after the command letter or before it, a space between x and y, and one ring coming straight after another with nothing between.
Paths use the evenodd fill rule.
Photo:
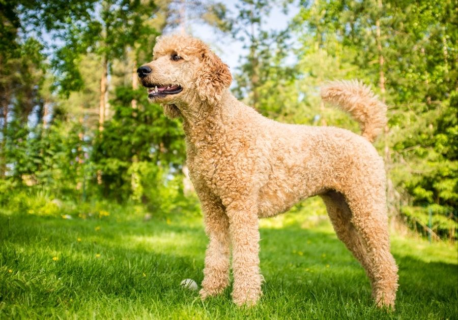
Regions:
<instances>
[{"instance_id":1,"label":"poodle's nearer front leg, the brightly lit right one of the pair","mask_svg":"<svg viewBox=\"0 0 458 320\"><path fill-rule=\"evenodd\" d=\"M262 295L259 270L259 219L254 200L232 203L226 213L233 246L234 290L237 305L256 304Z\"/></svg>"}]
</instances>

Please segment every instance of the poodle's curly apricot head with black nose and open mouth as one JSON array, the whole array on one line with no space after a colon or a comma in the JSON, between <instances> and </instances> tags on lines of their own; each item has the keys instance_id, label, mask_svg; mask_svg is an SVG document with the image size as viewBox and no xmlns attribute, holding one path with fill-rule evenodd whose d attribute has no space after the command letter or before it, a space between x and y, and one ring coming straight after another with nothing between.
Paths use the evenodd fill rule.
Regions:
<instances>
[{"instance_id":1,"label":"poodle's curly apricot head with black nose and open mouth","mask_svg":"<svg viewBox=\"0 0 458 320\"><path fill-rule=\"evenodd\" d=\"M170 118L182 115L182 111L199 112L183 108L217 104L231 85L229 68L201 40L162 36L153 55L153 61L138 68L138 77L148 88L150 101L162 104Z\"/></svg>"}]
</instances>

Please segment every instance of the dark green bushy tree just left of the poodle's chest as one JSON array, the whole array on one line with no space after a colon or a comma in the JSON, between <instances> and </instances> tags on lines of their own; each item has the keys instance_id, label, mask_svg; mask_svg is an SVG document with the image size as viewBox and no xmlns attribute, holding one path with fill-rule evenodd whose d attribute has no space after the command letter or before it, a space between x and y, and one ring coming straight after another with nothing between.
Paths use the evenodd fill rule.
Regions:
<instances>
[{"instance_id":1,"label":"dark green bushy tree just left of the poodle's chest","mask_svg":"<svg viewBox=\"0 0 458 320\"><path fill-rule=\"evenodd\" d=\"M112 101L115 114L94 141L92 160L102 172L103 195L118 200L157 201L167 174L180 171L184 161L181 125L163 116L159 105L141 103L145 94L119 87Z\"/></svg>"}]
</instances>

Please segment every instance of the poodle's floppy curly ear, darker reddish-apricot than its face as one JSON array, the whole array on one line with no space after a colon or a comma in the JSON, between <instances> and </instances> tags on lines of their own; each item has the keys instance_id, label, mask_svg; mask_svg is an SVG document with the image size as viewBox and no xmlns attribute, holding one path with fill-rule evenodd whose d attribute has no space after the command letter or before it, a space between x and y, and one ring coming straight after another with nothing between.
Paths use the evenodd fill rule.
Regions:
<instances>
[{"instance_id":1,"label":"poodle's floppy curly ear, darker reddish-apricot than its face","mask_svg":"<svg viewBox=\"0 0 458 320\"><path fill-rule=\"evenodd\" d=\"M231 82L229 67L216 54L207 48L204 49L202 65L196 71L195 80L199 98L214 105L221 100L224 89L228 88Z\"/></svg>"}]
</instances>

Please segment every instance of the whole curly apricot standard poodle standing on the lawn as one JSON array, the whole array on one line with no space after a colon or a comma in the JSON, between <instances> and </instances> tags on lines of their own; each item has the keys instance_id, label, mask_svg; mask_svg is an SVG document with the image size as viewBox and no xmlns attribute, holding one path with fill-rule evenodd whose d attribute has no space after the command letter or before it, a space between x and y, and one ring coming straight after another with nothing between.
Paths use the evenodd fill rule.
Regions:
<instances>
[{"instance_id":1,"label":"whole curly apricot standard poodle standing on the lawn","mask_svg":"<svg viewBox=\"0 0 458 320\"><path fill-rule=\"evenodd\" d=\"M372 141L386 106L357 81L337 81L322 98L359 121L362 136L337 127L279 123L238 101L232 76L198 39L163 36L137 70L152 102L181 117L187 165L202 203L206 251L202 298L229 284L232 244L237 305L261 297L259 218L320 196L338 238L364 267L378 306L394 307L397 266L390 253L385 171Z\"/></svg>"}]
</instances>

